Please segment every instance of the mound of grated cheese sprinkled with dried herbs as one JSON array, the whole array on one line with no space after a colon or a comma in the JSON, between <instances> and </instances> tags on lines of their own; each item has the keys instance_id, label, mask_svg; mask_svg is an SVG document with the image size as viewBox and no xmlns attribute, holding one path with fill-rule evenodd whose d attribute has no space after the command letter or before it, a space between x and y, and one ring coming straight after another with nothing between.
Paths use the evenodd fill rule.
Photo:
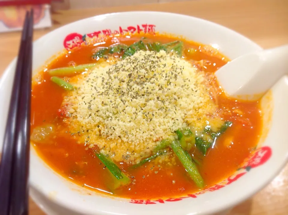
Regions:
<instances>
[{"instance_id":1,"label":"mound of grated cheese sprinkled with dried herbs","mask_svg":"<svg viewBox=\"0 0 288 215\"><path fill-rule=\"evenodd\" d=\"M136 52L74 84L71 127L82 127L85 140L114 160L137 162L175 130L203 126L203 116L215 109L203 81L203 73L182 58Z\"/></svg>"}]
</instances>

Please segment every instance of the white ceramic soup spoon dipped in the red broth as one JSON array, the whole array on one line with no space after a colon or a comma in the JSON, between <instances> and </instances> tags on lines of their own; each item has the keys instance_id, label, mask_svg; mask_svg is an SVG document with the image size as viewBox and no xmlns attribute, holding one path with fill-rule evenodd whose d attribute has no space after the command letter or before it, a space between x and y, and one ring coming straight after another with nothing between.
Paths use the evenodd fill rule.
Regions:
<instances>
[{"instance_id":1,"label":"white ceramic soup spoon dipped in the red broth","mask_svg":"<svg viewBox=\"0 0 288 215\"><path fill-rule=\"evenodd\" d=\"M215 73L229 96L253 95L253 99L261 97L285 74L288 74L288 45L241 55Z\"/></svg>"}]
</instances>

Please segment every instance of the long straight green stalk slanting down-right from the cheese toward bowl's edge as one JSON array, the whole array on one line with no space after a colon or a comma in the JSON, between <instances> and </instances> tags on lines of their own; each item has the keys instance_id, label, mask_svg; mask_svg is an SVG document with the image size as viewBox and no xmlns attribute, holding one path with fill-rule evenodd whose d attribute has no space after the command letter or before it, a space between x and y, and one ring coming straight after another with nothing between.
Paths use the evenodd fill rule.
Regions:
<instances>
[{"instance_id":1,"label":"long straight green stalk slanting down-right from the cheese toward bowl's edge","mask_svg":"<svg viewBox=\"0 0 288 215\"><path fill-rule=\"evenodd\" d=\"M179 158L180 162L184 166L185 170L188 172L190 178L195 182L197 187L204 187L204 181L201 177L196 165L192 162L191 157L180 146L178 140L174 140L171 143L171 148L173 149L176 156Z\"/></svg>"}]
</instances>

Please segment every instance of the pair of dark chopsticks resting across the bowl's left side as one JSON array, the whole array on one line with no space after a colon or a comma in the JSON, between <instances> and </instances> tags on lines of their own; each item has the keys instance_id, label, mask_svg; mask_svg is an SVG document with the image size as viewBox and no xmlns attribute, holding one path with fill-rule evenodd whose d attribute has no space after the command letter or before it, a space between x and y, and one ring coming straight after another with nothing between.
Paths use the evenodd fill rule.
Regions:
<instances>
[{"instance_id":1,"label":"pair of dark chopsticks resting across the bowl's left side","mask_svg":"<svg viewBox=\"0 0 288 215\"><path fill-rule=\"evenodd\" d=\"M26 13L0 163L0 215L28 214L33 10Z\"/></svg>"}]
</instances>

